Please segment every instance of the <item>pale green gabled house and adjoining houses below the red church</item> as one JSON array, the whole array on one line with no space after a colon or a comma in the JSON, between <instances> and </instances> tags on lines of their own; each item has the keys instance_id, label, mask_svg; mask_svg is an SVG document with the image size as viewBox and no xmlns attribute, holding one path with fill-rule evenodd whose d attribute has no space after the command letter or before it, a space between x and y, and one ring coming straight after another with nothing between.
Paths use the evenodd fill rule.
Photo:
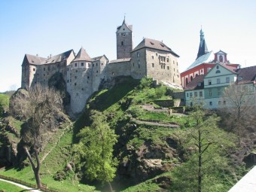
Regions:
<instances>
[{"instance_id":1,"label":"pale green gabled house and adjoining houses below the red church","mask_svg":"<svg viewBox=\"0 0 256 192\"><path fill-rule=\"evenodd\" d=\"M203 104L204 108L224 108L231 105L232 95L227 94L227 87L236 85L233 95L243 98L240 102L255 99L256 95L256 66L242 69L229 69L220 63L215 64L206 75L197 75L184 89L184 101L187 106L193 105L194 100ZM239 87L239 91L237 88ZM250 105L255 105L251 100Z\"/></svg>"}]
</instances>

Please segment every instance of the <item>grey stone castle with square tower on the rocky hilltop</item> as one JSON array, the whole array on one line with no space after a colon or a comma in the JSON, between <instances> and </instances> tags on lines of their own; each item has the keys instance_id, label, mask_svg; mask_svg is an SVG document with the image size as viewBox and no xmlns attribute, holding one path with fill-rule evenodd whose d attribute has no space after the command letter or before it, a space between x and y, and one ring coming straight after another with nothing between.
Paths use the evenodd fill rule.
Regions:
<instances>
[{"instance_id":1,"label":"grey stone castle with square tower on the rocky hilltop","mask_svg":"<svg viewBox=\"0 0 256 192\"><path fill-rule=\"evenodd\" d=\"M99 84L117 76L151 77L158 82L181 84L179 56L162 41L143 38L133 48L133 26L128 25L125 19L117 27L116 38L117 59L111 61L105 55L91 58L83 47L76 55L74 50L47 58L26 54L21 86L47 86L50 78L60 72L71 96L72 112L79 113L88 97L99 89Z\"/></svg>"}]
</instances>

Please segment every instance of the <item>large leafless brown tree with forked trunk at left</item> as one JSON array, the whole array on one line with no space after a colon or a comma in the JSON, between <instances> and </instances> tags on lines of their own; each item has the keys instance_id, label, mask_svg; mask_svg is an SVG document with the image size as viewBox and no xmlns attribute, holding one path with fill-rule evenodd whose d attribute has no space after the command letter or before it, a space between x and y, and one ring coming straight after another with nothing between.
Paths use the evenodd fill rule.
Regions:
<instances>
[{"instance_id":1,"label":"large leafless brown tree with forked trunk at left","mask_svg":"<svg viewBox=\"0 0 256 192\"><path fill-rule=\"evenodd\" d=\"M38 188L42 187L38 155L44 145L45 133L56 126L54 114L62 109L62 99L52 88L36 85L30 90L18 90L11 98L11 111L22 117L26 124L21 130L21 143L31 163Z\"/></svg>"}]
</instances>

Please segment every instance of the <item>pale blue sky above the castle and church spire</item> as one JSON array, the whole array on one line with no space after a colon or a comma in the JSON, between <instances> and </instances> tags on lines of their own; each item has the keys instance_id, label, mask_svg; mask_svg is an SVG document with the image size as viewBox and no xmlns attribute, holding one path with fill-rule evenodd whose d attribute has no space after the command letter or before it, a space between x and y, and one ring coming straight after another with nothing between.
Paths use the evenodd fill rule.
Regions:
<instances>
[{"instance_id":1,"label":"pale blue sky above the castle and church spire","mask_svg":"<svg viewBox=\"0 0 256 192\"><path fill-rule=\"evenodd\" d=\"M209 50L256 66L254 0L1 0L0 92L20 87L26 53L47 57L84 47L91 57L116 59L124 17L133 25L133 47L143 38L163 41L180 56L179 72L197 57L201 26Z\"/></svg>"}]
</instances>

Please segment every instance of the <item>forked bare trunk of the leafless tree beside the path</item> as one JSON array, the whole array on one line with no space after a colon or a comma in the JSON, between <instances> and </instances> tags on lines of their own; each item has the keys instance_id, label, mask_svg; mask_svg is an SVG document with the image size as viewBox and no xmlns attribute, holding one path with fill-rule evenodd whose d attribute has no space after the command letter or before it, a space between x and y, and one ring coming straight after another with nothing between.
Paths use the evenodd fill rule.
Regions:
<instances>
[{"instance_id":1,"label":"forked bare trunk of the leafless tree beside the path","mask_svg":"<svg viewBox=\"0 0 256 192\"><path fill-rule=\"evenodd\" d=\"M38 157L38 151L34 150L35 151L35 160L36 160L36 163L37 163L37 166L35 167L35 163L33 162L33 159L29 153L29 149L24 147L25 151L26 151L26 155L28 156L29 158L29 162L31 163L31 166L32 166L32 169L33 169L33 172L34 172L34 175L35 175L35 181L36 181L36 184L38 186L38 189L41 189L41 187L43 187L43 185L41 184L41 178L40 178L40 175L39 175L39 169L40 169L40 160L39 160L39 157Z\"/></svg>"}]
</instances>

